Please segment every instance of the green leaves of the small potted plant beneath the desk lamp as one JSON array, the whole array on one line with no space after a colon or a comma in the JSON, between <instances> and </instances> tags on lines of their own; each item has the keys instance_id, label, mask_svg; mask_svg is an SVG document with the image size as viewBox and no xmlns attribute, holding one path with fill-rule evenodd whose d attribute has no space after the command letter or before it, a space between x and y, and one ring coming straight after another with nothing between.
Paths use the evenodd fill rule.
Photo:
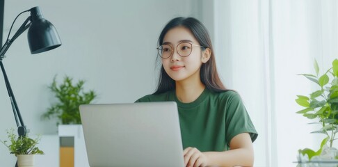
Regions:
<instances>
[{"instance_id":1,"label":"green leaves of the small potted plant beneath the desk lamp","mask_svg":"<svg viewBox=\"0 0 338 167\"><path fill-rule=\"evenodd\" d=\"M10 150L10 154L44 154L42 150L40 150L36 145L38 145L41 136L38 136L35 139L29 138L28 136L17 136L14 134L14 129L7 130L8 139L10 145L8 145L8 141L1 141L8 150Z\"/></svg>"}]
</instances>

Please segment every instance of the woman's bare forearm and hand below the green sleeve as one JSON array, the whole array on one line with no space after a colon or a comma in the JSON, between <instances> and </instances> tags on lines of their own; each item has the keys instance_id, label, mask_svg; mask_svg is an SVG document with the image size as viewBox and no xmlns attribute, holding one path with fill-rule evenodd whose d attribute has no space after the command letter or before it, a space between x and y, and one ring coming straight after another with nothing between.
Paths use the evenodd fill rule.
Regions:
<instances>
[{"instance_id":1,"label":"woman's bare forearm and hand below the green sleeve","mask_svg":"<svg viewBox=\"0 0 338 167\"><path fill-rule=\"evenodd\" d=\"M186 166L253 166L254 151L250 135L238 134L230 141L230 150L225 152L200 152L196 148L184 150Z\"/></svg>"}]
</instances>

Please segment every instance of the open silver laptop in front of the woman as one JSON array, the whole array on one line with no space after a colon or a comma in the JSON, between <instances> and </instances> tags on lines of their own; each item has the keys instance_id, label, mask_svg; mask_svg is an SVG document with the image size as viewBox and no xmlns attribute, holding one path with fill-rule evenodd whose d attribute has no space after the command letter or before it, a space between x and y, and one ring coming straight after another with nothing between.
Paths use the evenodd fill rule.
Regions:
<instances>
[{"instance_id":1,"label":"open silver laptop in front of the woman","mask_svg":"<svg viewBox=\"0 0 338 167\"><path fill-rule=\"evenodd\" d=\"M184 166L175 102L83 104L80 115L91 167Z\"/></svg>"}]
</instances>

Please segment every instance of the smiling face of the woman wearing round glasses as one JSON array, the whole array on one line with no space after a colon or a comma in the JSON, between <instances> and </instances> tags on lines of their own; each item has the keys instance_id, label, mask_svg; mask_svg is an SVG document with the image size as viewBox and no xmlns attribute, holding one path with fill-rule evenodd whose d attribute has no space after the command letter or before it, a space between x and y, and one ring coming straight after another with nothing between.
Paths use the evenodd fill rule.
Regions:
<instances>
[{"instance_id":1,"label":"smiling face of the woman wearing round glasses","mask_svg":"<svg viewBox=\"0 0 338 167\"><path fill-rule=\"evenodd\" d=\"M192 45L179 45L182 42ZM161 58L164 70L166 70L169 77L175 81L183 81L191 77L200 78L200 67L206 61L204 62L201 47L195 46L200 45L200 43L198 43L191 31L183 26L171 29L163 38L164 45L167 46L163 47L164 52L168 51L168 46L173 49L169 58ZM179 46L177 47L177 45ZM182 57L177 53L177 49L179 49L179 53L183 56L185 56L184 51L191 49L191 54Z\"/></svg>"}]
</instances>

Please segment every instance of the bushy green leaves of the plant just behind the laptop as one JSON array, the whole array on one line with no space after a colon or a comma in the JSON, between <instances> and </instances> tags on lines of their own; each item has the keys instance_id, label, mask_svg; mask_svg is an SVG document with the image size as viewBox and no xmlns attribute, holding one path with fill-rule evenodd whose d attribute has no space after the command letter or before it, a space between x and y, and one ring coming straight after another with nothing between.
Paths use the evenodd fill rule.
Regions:
<instances>
[{"instance_id":1,"label":"bushy green leaves of the plant just behind the laptop","mask_svg":"<svg viewBox=\"0 0 338 167\"><path fill-rule=\"evenodd\" d=\"M85 84L83 80L73 84L72 78L65 76L63 83L58 85L56 84L56 77L54 77L49 90L54 93L58 102L49 107L42 118L57 117L64 125L81 124L79 106L89 104L97 97L94 90L85 92L83 84Z\"/></svg>"}]
</instances>

